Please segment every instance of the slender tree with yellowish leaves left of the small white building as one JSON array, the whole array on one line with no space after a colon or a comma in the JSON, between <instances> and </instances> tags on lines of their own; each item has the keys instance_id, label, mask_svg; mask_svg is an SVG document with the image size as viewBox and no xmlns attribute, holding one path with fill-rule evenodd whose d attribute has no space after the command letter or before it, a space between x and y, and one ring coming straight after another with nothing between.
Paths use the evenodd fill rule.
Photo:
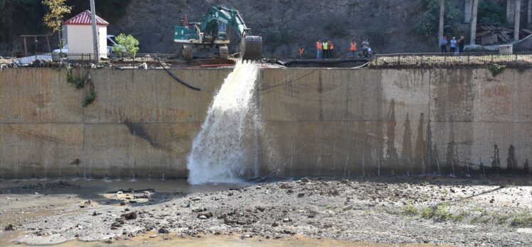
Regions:
<instances>
[{"instance_id":1,"label":"slender tree with yellowish leaves left of the small white building","mask_svg":"<svg viewBox=\"0 0 532 247\"><path fill-rule=\"evenodd\" d=\"M42 2L43 5L48 7L48 13L44 16L44 23L48 28L52 29L52 33L58 33L59 49L63 49L63 39L61 38L63 18L65 13L70 13L70 11L72 11L72 6L67 6L65 1L66 0L43 0Z\"/></svg>"}]
</instances>

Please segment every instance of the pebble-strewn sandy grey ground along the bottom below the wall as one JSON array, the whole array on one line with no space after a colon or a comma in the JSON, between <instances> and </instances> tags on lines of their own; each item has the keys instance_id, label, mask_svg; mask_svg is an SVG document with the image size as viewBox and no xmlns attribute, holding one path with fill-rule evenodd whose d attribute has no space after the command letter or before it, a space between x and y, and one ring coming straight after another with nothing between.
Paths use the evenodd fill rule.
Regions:
<instances>
[{"instance_id":1,"label":"pebble-strewn sandy grey ground along the bottom below the wall","mask_svg":"<svg viewBox=\"0 0 532 247\"><path fill-rule=\"evenodd\" d=\"M49 244L227 235L532 246L530 177L303 178L199 190L171 182L119 191L70 181L30 185L0 183L0 224L16 229L2 231L0 239Z\"/></svg>"}]
</instances>

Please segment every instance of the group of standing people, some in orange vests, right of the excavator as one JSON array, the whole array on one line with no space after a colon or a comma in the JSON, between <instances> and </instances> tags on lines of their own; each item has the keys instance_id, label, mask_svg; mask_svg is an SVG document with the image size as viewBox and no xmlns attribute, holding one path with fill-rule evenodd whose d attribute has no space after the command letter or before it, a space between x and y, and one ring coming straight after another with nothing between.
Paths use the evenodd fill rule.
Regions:
<instances>
[{"instance_id":1,"label":"group of standing people, some in orange vests, right of the excavator","mask_svg":"<svg viewBox=\"0 0 532 247\"><path fill-rule=\"evenodd\" d=\"M349 54L348 57L356 57L357 44L355 40L351 40L349 43ZM305 55L305 50L303 46L299 47L299 58L303 58ZM362 41L362 55L363 57L369 57L372 51L369 47L369 40L366 38ZM316 59L321 58L333 58L334 57L334 43L332 40L316 40Z\"/></svg>"}]
</instances>

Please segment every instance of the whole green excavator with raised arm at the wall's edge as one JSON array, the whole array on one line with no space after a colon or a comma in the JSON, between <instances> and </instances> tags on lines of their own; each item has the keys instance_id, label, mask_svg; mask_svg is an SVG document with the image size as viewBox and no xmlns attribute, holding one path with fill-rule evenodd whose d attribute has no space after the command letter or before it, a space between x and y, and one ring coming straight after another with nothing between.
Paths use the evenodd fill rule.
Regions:
<instances>
[{"instance_id":1,"label":"whole green excavator with raised arm at the wall's edge","mask_svg":"<svg viewBox=\"0 0 532 247\"><path fill-rule=\"evenodd\" d=\"M228 27L233 28L240 38L240 53L243 60L262 59L262 37L251 35L240 13L223 6L208 9L203 23L188 22L183 19L183 26L174 26L174 42L182 44L183 58L219 57L227 59L230 35Z\"/></svg>"}]
</instances>

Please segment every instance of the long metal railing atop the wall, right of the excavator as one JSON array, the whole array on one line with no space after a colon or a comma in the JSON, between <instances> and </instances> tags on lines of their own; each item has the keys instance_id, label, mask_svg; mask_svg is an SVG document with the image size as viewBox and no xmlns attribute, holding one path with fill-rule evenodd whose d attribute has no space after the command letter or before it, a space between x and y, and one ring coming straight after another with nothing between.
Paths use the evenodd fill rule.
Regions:
<instances>
[{"instance_id":1,"label":"long metal railing atop the wall, right of the excavator","mask_svg":"<svg viewBox=\"0 0 532 247\"><path fill-rule=\"evenodd\" d=\"M489 63L523 62L532 64L532 53L397 53L376 55L373 65L483 65Z\"/></svg>"}]
</instances>

